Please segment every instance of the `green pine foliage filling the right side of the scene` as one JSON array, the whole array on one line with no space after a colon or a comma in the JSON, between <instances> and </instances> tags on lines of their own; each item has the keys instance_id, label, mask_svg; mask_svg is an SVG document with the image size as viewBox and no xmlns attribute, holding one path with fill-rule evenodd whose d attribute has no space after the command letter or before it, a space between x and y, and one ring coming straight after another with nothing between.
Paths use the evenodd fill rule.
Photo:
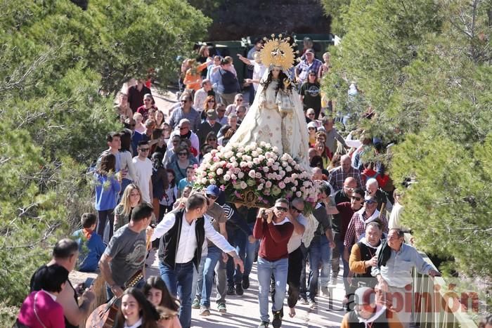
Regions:
<instances>
[{"instance_id":1,"label":"green pine foliage filling the right side of the scene","mask_svg":"<svg viewBox=\"0 0 492 328\"><path fill-rule=\"evenodd\" d=\"M491 8L489 1L353 0L323 81L337 110L373 107L376 116L357 124L399 143L387 159L396 183L415 181L403 222L418 247L481 277L492 273ZM353 80L361 97L349 103Z\"/></svg>"}]
</instances>

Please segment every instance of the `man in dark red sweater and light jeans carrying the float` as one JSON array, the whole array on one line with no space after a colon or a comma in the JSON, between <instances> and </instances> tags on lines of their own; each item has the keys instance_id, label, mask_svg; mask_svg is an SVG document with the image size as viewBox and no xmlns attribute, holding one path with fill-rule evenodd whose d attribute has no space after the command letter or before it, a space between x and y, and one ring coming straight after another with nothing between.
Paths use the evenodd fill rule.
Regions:
<instances>
[{"instance_id":1,"label":"man in dark red sweater and light jeans carrying the float","mask_svg":"<svg viewBox=\"0 0 492 328\"><path fill-rule=\"evenodd\" d=\"M257 270L261 322L258 327L268 327L269 324L268 291L272 273L276 282L272 326L278 328L282 325L283 301L289 269L287 243L294 232L294 225L286 218L289 207L287 199L279 198L270 209L260 209L257 221L254 223L253 237L260 240Z\"/></svg>"}]
</instances>

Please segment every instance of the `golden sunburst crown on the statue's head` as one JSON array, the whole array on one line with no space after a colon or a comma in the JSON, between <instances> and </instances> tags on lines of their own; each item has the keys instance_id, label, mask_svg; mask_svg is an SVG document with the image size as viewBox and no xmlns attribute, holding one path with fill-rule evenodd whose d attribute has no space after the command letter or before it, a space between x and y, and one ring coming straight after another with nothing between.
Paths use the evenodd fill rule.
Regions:
<instances>
[{"instance_id":1,"label":"golden sunburst crown on the statue's head","mask_svg":"<svg viewBox=\"0 0 492 328\"><path fill-rule=\"evenodd\" d=\"M294 49L289 44L290 37L282 38L282 34L275 37L275 34L271 34L272 39L264 40L266 43L259 52L261 63L266 67L279 66L282 70L288 70L292 67L295 60Z\"/></svg>"}]
</instances>

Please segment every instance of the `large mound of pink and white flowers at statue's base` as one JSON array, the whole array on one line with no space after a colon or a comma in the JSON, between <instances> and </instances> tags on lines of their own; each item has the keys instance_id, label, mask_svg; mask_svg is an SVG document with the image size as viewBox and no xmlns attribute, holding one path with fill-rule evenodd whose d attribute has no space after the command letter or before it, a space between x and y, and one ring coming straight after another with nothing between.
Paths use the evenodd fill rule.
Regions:
<instances>
[{"instance_id":1,"label":"large mound of pink and white flowers at statue's base","mask_svg":"<svg viewBox=\"0 0 492 328\"><path fill-rule=\"evenodd\" d=\"M219 147L205 155L195 174L195 188L218 185L228 202L268 207L280 197L301 197L310 208L317 199L311 174L269 143Z\"/></svg>"}]
</instances>

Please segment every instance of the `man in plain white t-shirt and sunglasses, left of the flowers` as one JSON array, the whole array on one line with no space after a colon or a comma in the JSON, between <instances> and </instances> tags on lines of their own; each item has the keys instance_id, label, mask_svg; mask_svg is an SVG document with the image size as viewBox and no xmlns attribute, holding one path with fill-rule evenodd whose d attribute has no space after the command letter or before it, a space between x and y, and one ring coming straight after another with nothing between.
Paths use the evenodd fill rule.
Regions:
<instances>
[{"instance_id":1,"label":"man in plain white t-shirt and sunglasses, left of the flowers","mask_svg":"<svg viewBox=\"0 0 492 328\"><path fill-rule=\"evenodd\" d=\"M152 162L148 159L150 145L147 141L141 141L137 147L138 156L133 161L138 178L138 188L140 188L142 201L152 204Z\"/></svg>"}]
</instances>

